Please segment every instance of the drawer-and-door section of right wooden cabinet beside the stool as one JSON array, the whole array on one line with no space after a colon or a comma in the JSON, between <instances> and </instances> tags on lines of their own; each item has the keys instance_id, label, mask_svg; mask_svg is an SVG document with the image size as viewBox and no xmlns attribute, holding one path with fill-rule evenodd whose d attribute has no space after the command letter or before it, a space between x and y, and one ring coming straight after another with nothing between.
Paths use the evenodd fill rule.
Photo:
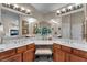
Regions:
<instances>
[{"instance_id":1,"label":"drawer-and-door section of right wooden cabinet beside the stool","mask_svg":"<svg viewBox=\"0 0 87 65\"><path fill-rule=\"evenodd\" d=\"M65 52L61 50L61 45L53 45L53 61L54 62L64 62L65 61Z\"/></svg>"}]
</instances>

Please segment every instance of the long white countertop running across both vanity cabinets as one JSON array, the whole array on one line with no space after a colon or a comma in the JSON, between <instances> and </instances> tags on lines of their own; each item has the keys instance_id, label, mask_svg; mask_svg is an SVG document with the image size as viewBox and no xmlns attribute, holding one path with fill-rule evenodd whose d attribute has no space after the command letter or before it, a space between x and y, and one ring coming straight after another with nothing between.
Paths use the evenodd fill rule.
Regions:
<instances>
[{"instance_id":1,"label":"long white countertop running across both vanity cabinets","mask_svg":"<svg viewBox=\"0 0 87 65\"><path fill-rule=\"evenodd\" d=\"M53 43L57 43L61 45L69 46L73 48L78 48L81 51L87 51L87 44L83 41L74 41L68 39L53 39L53 40L31 40L24 39L20 41L13 41L8 43L0 44L0 52L4 52L11 48L17 48L20 46L24 46L31 43L35 43L35 45L52 45Z\"/></svg>"}]
</instances>

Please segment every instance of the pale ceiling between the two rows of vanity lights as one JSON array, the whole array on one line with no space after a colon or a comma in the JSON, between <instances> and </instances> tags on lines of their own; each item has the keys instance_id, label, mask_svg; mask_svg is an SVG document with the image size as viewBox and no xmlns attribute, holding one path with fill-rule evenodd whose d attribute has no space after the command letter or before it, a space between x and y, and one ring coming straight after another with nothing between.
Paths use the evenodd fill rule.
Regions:
<instances>
[{"instance_id":1,"label":"pale ceiling between the two rows of vanity lights","mask_svg":"<svg viewBox=\"0 0 87 65\"><path fill-rule=\"evenodd\" d=\"M47 13L67 4L68 3L31 3L31 6L33 6L41 13Z\"/></svg>"}]
</instances>

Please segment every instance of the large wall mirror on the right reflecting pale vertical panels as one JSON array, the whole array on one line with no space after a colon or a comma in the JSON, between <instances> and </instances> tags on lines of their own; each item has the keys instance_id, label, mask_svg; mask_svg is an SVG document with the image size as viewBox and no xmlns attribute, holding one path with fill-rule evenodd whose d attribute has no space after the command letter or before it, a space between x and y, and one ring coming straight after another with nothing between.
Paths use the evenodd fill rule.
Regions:
<instances>
[{"instance_id":1,"label":"large wall mirror on the right reflecting pale vertical panels","mask_svg":"<svg viewBox=\"0 0 87 65\"><path fill-rule=\"evenodd\" d=\"M84 11L62 17L62 37L84 40Z\"/></svg>"}]
</instances>

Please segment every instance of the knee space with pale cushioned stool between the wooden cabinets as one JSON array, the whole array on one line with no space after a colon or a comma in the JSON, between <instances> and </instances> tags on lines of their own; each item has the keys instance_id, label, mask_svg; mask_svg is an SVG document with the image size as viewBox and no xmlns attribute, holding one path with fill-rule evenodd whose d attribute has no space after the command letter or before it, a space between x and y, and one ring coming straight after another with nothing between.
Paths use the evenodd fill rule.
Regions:
<instances>
[{"instance_id":1,"label":"knee space with pale cushioned stool between the wooden cabinets","mask_svg":"<svg viewBox=\"0 0 87 65\"><path fill-rule=\"evenodd\" d=\"M52 45L36 45L35 62L53 62Z\"/></svg>"}]
</instances>

